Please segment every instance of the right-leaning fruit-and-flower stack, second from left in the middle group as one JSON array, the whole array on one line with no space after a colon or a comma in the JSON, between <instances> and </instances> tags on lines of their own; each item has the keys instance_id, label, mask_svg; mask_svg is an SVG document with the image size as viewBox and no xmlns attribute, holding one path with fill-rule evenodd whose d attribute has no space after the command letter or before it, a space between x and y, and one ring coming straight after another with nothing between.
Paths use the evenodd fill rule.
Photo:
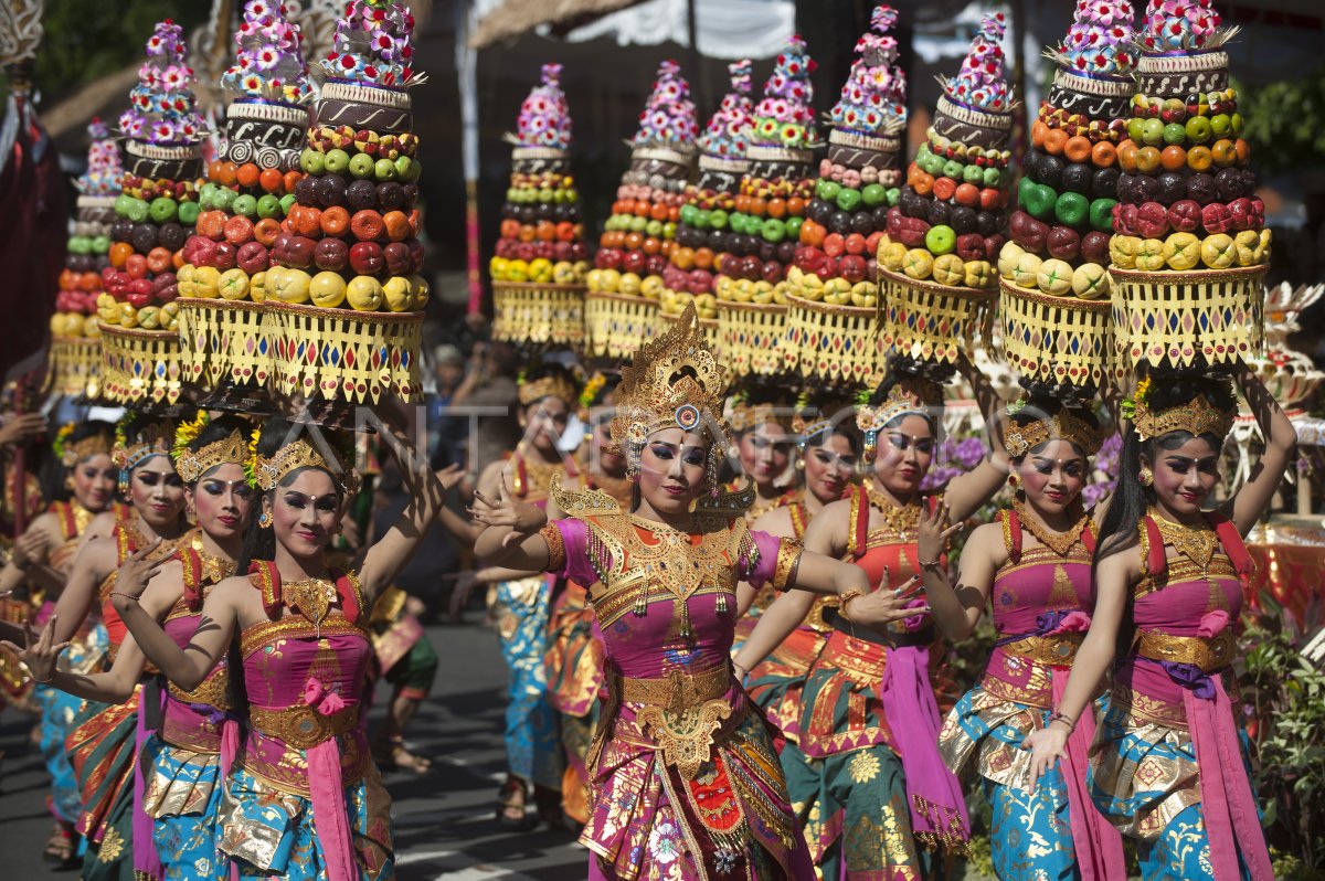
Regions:
<instances>
[{"instance_id":1,"label":"right-leaning fruit-and-flower stack, second from left in the middle group","mask_svg":"<svg viewBox=\"0 0 1325 881\"><path fill-rule=\"evenodd\" d=\"M594 256L594 268L602 272L590 277L590 290L661 299L698 129L680 65L664 61L631 140L631 167L621 175L612 213L603 224ZM708 317L714 315L701 314Z\"/></svg>"}]
</instances>

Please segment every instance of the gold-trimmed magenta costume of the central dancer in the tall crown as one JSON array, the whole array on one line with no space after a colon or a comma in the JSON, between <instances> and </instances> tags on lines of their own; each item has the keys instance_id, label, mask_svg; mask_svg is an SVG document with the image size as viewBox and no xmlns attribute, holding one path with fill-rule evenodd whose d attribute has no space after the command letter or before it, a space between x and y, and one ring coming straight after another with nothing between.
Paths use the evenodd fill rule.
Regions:
<instances>
[{"instance_id":1,"label":"gold-trimmed magenta costume of the central dancer in the tall crown","mask_svg":"<svg viewBox=\"0 0 1325 881\"><path fill-rule=\"evenodd\" d=\"M568 518L543 530L549 571L594 586L607 653L580 836L598 855L590 877L767 881L759 864L812 877L772 737L730 665L737 583L784 586L799 546L750 531L739 507L701 506L686 534L623 513L606 493L556 501ZM680 858L673 874L682 849L704 868Z\"/></svg>"}]
</instances>

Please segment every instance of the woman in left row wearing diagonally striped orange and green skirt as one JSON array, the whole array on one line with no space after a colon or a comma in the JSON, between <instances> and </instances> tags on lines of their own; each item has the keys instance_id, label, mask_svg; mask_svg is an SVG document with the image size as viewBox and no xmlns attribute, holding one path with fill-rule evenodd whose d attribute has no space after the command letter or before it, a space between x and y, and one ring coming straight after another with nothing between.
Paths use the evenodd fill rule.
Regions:
<instances>
[{"instance_id":1,"label":"woman in left row wearing diagonally striped orange and green skirt","mask_svg":"<svg viewBox=\"0 0 1325 881\"><path fill-rule=\"evenodd\" d=\"M78 631L95 599L110 639L106 662L114 664L125 640L123 623L110 607L119 567L143 548L151 548L152 559L168 556L188 526L184 488L170 460L172 437L174 425L148 416L126 417L117 427L113 458L134 515L78 551L69 583L52 613L53 644L69 640ZM159 870L150 836L132 832L134 817L140 815L132 771L138 746L146 739L146 727L139 727L138 718L140 694L136 688L125 702L85 701L65 738L82 796L76 828L90 845L83 857L85 878Z\"/></svg>"}]
</instances>

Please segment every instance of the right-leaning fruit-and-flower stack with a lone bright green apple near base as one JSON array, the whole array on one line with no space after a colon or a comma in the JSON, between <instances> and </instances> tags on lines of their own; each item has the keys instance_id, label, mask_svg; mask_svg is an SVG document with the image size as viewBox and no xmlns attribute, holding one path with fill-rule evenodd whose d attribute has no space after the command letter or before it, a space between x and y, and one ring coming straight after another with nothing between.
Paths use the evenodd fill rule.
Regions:
<instances>
[{"instance_id":1,"label":"right-leaning fruit-and-flower stack with a lone bright green apple near base","mask_svg":"<svg viewBox=\"0 0 1325 881\"><path fill-rule=\"evenodd\" d=\"M961 72L943 83L934 125L906 168L897 205L888 209L878 261L889 272L954 287L994 281L1011 183L1004 29L1002 13L986 16Z\"/></svg>"}]
</instances>

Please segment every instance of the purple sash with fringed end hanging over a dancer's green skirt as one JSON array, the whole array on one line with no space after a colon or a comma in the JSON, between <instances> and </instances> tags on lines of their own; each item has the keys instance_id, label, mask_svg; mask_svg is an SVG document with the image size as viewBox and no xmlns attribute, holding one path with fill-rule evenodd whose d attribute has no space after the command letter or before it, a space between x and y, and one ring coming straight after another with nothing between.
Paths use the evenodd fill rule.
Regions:
<instances>
[{"instance_id":1,"label":"purple sash with fringed end hanging over a dancer's green skirt","mask_svg":"<svg viewBox=\"0 0 1325 881\"><path fill-rule=\"evenodd\" d=\"M962 786L938 752L938 702L929 684L929 649L884 648L886 661L878 700L901 754L912 831L931 841L969 841Z\"/></svg>"}]
</instances>

